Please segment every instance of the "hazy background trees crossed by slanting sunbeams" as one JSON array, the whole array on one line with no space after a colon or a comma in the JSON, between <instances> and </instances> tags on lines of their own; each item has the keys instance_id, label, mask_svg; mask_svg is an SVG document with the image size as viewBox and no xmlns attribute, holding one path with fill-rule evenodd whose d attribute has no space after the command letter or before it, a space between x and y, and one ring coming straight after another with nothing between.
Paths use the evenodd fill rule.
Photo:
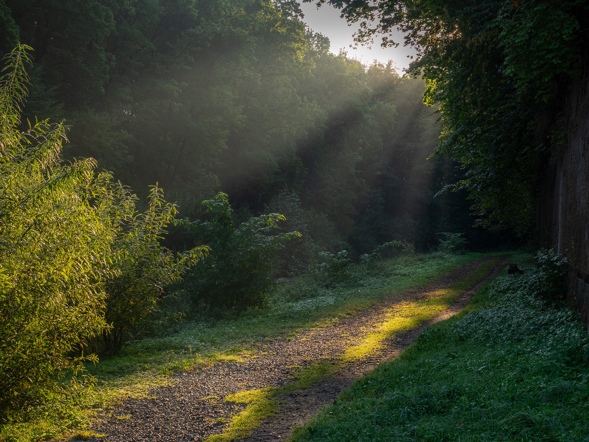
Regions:
<instances>
[{"instance_id":1,"label":"hazy background trees crossed by slanting sunbeams","mask_svg":"<svg viewBox=\"0 0 589 442\"><path fill-rule=\"evenodd\" d=\"M426 160L439 128L423 82L331 54L303 21L294 1L5 0L0 47L34 49L24 117L65 120L66 158L140 196L157 182L181 217L222 190L238 221L297 220L307 251L427 250L438 232L501 243L472 229L464 192L434 199L462 171Z\"/></svg>"}]
</instances>

